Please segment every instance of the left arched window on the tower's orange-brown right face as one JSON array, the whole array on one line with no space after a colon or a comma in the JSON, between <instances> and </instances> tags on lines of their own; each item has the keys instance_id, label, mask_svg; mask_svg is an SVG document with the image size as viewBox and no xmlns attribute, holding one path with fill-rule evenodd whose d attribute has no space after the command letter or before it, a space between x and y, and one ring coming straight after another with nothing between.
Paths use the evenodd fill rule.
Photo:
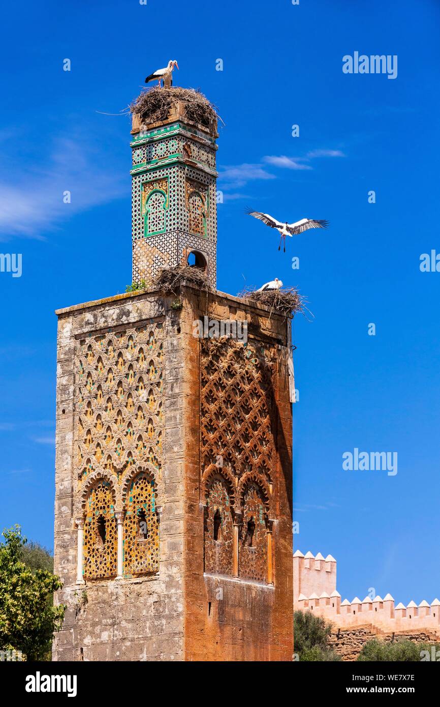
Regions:
<instances>
[{"instance_id":1,"label":"left arched window on the tower's orange-brown right face","mask_svg":"<svg viewBox=\"0 0 440 707\"><path fill-rule=\"evenodd\" d=\"M210 484L205 510L205 572L232 575L232 515L227 484L216 476Z\"/></svg>"}]
</instances>

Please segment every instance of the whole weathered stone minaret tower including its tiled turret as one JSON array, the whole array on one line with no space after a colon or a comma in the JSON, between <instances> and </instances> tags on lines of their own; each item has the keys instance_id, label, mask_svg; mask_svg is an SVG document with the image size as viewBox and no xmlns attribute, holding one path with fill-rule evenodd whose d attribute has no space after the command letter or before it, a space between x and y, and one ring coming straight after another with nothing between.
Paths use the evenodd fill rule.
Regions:
<instances>
[{"instance_id":1,"label":"whole weathered stone minaret tower including its tiled turret","mask_svg":"<svg viewBox=\"0 0 440 707\"><path fill-rule=\"evenodd\" d=\"M215 141L181 92L133 121L133 269L194 250L214 284ZM54 659L291 660L290 322L189 283L57 315Z\"/></svg>"}]
</instances>

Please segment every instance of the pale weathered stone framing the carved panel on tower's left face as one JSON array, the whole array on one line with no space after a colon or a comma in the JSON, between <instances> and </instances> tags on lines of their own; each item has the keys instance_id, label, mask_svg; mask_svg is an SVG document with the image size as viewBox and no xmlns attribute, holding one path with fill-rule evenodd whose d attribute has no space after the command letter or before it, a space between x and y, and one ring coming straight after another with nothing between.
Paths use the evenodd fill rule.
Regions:
<instances>
[{"instance_id":1,"label":"pale weathered stone framing the carved panel on tower's left face","mask_svg":"<svg viewBox=\"0 0 440 707\"><path fill-rule=\"evenodd\" d=\"M182 660L183 650L183 433L182 345L174 314L163 298L123 295L60 310L57 380L57 451L54 568L64 581L57 601L67 604L63 629L54 643L55 660ZM87 580L76 585L80 493L76 469L74 399L76 340L165 316L165 443L157 479L160 568L157 574L122 580ZM122 480L122 479L121 479Z\"/></svg>"}]
</instances>

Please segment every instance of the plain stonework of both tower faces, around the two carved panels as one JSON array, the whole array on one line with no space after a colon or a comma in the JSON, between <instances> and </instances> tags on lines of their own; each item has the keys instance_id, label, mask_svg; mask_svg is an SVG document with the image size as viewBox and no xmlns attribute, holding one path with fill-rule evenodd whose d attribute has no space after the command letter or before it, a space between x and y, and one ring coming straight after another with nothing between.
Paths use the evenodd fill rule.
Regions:
<instances>
[{"instance_id":1,"label":"plain stonework of both tower faces, around the two carved panels","mask_svg":"<svg viewBox=\"0 0 440 707\"><path fill-rule=\"evenodd\" d=\"M206 293L184 287L181 297L182 310L170 308L174 296L131 293L57 312L54 566L64 580L57 601L66 603L68 609L54 643L54 660L292 660L292 417L287 325L268 310L222 293L207 298ZM205 314L246 320L252 345L272 351L270 584L203 572L201 342L193 329L194 320ZM164 322L165 407L162 472L157 475L159 571L118 580L86 578L85 585L78 585L75 519L82 479L78 479L74 448L76 341L159 320Z\"/></svg>"}]
</instances>

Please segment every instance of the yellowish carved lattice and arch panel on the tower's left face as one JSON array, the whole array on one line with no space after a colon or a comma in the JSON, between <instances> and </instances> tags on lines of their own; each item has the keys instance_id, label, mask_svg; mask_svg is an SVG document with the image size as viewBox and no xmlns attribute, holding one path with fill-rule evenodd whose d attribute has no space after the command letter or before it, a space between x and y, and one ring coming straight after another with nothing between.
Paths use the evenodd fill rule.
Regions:
<instances>
[{"instance_id":1,"label":"yellowish carved lattice and arch panel on the tower's left face","mask_svg":"<svg viewBox=\"0 0 440 707\"><path fill-rule=\"evenodd\" d=\"M116 541L110 529L116 524L115 508L129 513L124 525L129 533L124 542L127 571L157 569L154 489L162 473L162 347L162 322L157 320L76 342L77 506L78 515L81 508L88 513L84 534L88 578L116 572L113 560L97 562L99 557L113 559ZM90 503L97 503L96 489L99 513L93 509L90 513ZM138 504L136 509L133 503ZM137 521L132 516L138 510L147 524L141 539L133 530Z\"/></svg>"}]
</instances>

